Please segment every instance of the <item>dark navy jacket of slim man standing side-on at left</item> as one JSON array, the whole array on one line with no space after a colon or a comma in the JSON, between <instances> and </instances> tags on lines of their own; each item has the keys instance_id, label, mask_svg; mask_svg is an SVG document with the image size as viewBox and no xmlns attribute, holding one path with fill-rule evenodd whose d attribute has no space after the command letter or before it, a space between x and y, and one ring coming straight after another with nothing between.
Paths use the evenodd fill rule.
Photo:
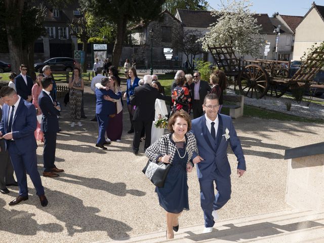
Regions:
<instances>
[{"instance_id":1,"label":"dark navy jacket of slim man standing side-on at left","mask_svg":"<svg viewBox=\"0 0 324 243\"><path fill-rule=\"evenodd\" d=\"M54 107L50 96L43 90L38 96L38 105L43 112L42 131L44 133L57 133L59 131L59 120L57 116L60 112Z\"/></svg>"}]
</instances>

